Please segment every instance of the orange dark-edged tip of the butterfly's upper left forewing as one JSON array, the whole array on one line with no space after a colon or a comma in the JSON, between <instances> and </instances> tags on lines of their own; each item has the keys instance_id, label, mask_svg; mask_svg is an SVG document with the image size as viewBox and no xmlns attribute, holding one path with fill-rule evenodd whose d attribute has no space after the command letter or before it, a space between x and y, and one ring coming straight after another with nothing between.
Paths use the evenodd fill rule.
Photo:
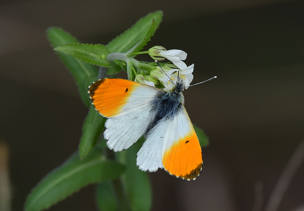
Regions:
<instances>
[{"instance_id":1,"label":"orange dark-edged tip of the butterfly's upper left forewing","mask_svg":"<svg viewBox=\"0 0 304 211\"><path fill-rule=\"evenodd\" d=\"M105 117L119 114L138 83L119 78L105 78L89 86L89 95L95 109Z\"/></svg>"}]
</instances>

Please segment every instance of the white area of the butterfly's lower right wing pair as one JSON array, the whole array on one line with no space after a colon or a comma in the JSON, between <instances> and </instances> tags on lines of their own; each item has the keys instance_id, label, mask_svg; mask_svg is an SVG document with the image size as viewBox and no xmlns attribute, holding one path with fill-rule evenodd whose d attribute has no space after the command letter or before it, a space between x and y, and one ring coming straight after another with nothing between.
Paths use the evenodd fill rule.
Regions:
<instances>
[{"instance_id":1,"label":"white area of the butterfly's lower right wing pair","mask_svg":"<svg viewBox=\"0 0 304 211\"><path fill-rule=\"evenodd\" d=\"M190 131L188 115L185 112L185 107L180 104L172 116L162 119L149 132L137 153L136 164L140 170L157 171L158 168L164 168L162 157L165 150Z\"/></svg>"}]
</instances>

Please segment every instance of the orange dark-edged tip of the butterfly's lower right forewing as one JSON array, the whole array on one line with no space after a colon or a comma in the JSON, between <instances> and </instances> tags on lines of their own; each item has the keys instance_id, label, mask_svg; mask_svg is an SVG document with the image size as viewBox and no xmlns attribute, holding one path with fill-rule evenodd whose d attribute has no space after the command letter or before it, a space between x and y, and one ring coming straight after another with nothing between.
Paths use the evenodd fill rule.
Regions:
<instances>
[{"instance_id":1,"label":"orange dark-edged tip of the butterfly's lower right forewing","mask_svg":"<svg viewBox=\"0 0 304 211\"><path fill-rule=\"evenodd\" d=\"M194 180L202 170L202 150L194 129L163 155L164 169L171 175Z\"/></svg>"}]
</instances>

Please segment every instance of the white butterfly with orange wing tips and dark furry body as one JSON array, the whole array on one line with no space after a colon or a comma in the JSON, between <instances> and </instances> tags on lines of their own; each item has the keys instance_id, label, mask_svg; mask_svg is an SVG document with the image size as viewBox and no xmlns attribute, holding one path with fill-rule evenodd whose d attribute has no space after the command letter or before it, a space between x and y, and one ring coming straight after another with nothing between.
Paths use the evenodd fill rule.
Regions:
<instances>
[{"instance_id":1,"label":"white butterfly with orange wing tips and dark furry body","mask_svg":"<svg viewBox=\"0 0 304 211\"><path fill-rule=\"evenodd\" d=\"M184 107L184 83L171 91L119 78L104 78L88 87L95 109L104 117L104 138L115 152L129 148L143 135L136 164L142 171L164 168L176 177L194 180L202 170L202 150Z\"/></svg>"}]
</instances>

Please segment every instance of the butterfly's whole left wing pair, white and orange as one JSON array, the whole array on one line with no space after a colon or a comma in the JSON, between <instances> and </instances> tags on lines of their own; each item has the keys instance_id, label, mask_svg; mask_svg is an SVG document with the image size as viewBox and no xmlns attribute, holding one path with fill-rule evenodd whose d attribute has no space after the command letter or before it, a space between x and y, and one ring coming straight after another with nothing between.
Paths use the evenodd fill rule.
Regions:
<instances>
[{"instance_id":1,"label":"butterfly's whole left wing pair, white and orange","mask_svg":"<svg viewBox=\"0 0 304 211\"><path fill-rule=\"evenodd\" d=\"M121 151L146 132L154 118L155 97L164 91L125 79L105 78L95 81L88 92L95 109L108 118L104 132L108 147Z\"/></svg>"}]
</instances>

